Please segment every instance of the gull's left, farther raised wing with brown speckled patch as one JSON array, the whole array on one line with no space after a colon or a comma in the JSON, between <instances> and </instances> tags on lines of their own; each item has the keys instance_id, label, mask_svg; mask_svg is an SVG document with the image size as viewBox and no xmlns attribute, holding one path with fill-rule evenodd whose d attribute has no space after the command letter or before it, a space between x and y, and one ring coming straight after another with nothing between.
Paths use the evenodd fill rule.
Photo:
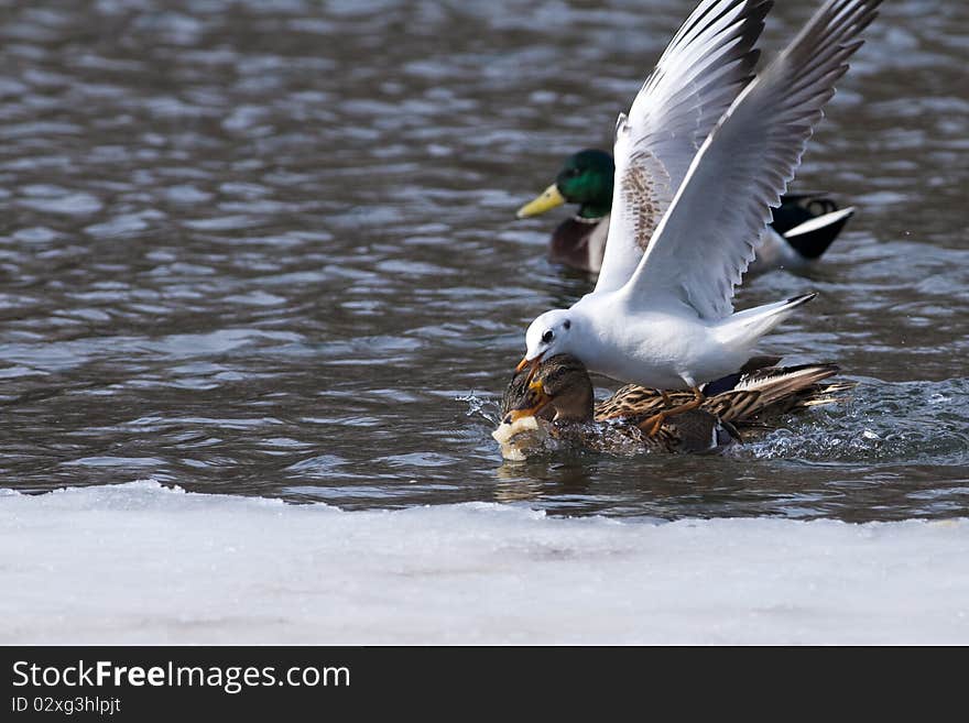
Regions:
<instances>
[{"instance_id":1,"label":"gull's left, farther raised wing with brown speckled patch","mask_svg":"<svg viewBox=\"0 0 969 723\"><path fill-rule=\"evenodd\" d=\"M703 0L620 116L606 256L596 291L635 271L693 157L750 81L772 0Z\"/></svg>"}]
</instances>

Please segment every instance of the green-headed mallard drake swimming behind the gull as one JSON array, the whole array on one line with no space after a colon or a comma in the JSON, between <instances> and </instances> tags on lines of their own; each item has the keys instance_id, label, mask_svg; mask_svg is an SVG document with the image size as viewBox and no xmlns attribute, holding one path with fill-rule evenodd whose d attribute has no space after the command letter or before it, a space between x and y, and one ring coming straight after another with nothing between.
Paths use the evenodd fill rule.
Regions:
<instances>
[{"instance_id":1,"label":"green-headed mallard drake swimming behind the gull","mask_svg":"<svg viewBox=\"0 0 969 723\"><path fill-rule=\"evenodd\" d=\"M555 183L518 210L519 218L530 218L564 204L578 205L576 212L552 233L552 262L599 273L609 235L614 175L611 154L597 149L580 151L565 160ZM747 273L810 265L828 250L853 215L853 207L839 209L823 193L783 196Z\"/></svg>"}]
</instances>

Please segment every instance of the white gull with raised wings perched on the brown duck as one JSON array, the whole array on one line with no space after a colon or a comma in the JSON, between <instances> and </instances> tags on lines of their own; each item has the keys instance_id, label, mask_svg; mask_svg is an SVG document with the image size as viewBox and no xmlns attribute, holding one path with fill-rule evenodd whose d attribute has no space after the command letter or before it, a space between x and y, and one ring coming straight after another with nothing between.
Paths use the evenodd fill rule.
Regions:
<instances>
[{"instance_id":1,"label":"white gull with raised wings perched on the brown duck","mask_svg":"<svg viewBox=\"0 0 969 723\"><path fill-rule=\"evenodd\" d=\"M660 149L688 127L671 125L675 114L662 103L656 108L653 95L674 78L690 87L704 84L708 91L733 80L738 61L718 65L704 53L722 59L725 47L737 47L738 33L750 34L748 18L765 12L767 3L700 4L629 116L617 122L612 218L596 288L571 308L546 311L532 322L518 370L534 371L543 358L569 353L591 372L622 382L692 390L693 402L657 415L651 425L657 430L666 417L700 406L701 384L743 366L761 337L815 298L805 294L739 313L732 304L771 209L780 205L880 2L827 0L716 122L654 228L655 188L662 185L656 178L675 175L658 160ZM641 259L636 249L644 249Z\"/></svg>"}]
</instances>

